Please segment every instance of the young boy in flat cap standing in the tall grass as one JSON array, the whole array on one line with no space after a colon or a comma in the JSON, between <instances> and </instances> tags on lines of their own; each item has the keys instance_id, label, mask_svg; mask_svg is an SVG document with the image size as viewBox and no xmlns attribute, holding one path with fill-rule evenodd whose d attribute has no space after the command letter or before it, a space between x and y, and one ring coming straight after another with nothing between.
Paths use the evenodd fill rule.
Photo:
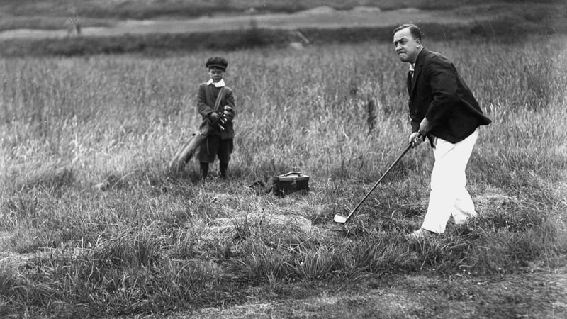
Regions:
<instances>
[{"instance_id":1,"label":"young boy in flat cap standing in the tall grass","mask_svg":"<svg viewBox=\"0 0 567 319\"><path fill-rule=\"evenodd\" d=\"M235 97L223 79L228 62L223 57L210 57L205 66L210 79L199 84L197 110L203 116L201 131L208 130L206 140L199 147L198 160L201 177L206 179L209 164L218 157L220 177L226 179L230 153L235 136L232 119L235 117ZM218 101L217 101L218 100ZM208 128L206 128L208 127Z\"/></svg>"}]
</instances>

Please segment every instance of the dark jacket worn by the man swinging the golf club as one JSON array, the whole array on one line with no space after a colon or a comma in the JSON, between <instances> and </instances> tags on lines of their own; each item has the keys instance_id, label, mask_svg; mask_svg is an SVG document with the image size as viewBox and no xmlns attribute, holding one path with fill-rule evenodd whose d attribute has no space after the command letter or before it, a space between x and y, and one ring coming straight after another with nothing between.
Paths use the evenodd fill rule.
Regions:
<instances>
[{"instance_id":1,"label":"dark jacket worn by the man swinging the golf club","mask_svg":"<svg viewBox=\"0 0 567 319\"><path fill-rule=\"evenodd\" d=\"M408 74L408 92L412 132L427 117L430 138L434 135L456 143L490 123L453 63L425 47L417 55L413 77Z\"/></svg>"}]
</instances>

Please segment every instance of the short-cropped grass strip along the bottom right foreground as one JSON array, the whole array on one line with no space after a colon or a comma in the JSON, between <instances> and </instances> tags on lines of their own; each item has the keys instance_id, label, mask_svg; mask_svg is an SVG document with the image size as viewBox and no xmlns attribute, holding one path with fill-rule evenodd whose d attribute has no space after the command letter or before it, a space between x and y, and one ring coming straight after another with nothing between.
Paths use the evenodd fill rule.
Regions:
<instances>
[{"instance_id":1,"label":"short-cropped grass strip along the bottom right foreground","mask_svg":"<svg viewBox=\"0 0 567 319\"><path fill-rule=\"evenodd\" d=\"M567 315L566 267L468 279L369 276L357 283L335 283L303 288L303 291L309 296L264 298L169 318L565 318Z\"/></svg>"}]
</instances>

